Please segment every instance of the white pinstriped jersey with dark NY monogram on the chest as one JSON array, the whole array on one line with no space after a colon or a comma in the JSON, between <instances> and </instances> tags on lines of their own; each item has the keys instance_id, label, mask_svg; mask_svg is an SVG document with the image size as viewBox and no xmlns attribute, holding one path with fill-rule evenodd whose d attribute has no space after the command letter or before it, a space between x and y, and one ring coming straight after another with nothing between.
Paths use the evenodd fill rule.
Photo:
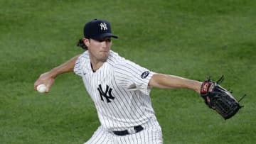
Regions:
<instances>
[{"instance_id":1,"label":"white pinstriped jersey with dark NY monogram on the chest","mask_svg":"<svg viewBox=\"0 0 256 144\"><path fill-rule=\"evenodd\" d=\"M104 128L121 131L141 125L154 115L148 87L154 72L125 60L112 50L96 72L92 71L89 52L85 51L78 57L74 72L82 77Z\"/></svg>"}]
</instances>

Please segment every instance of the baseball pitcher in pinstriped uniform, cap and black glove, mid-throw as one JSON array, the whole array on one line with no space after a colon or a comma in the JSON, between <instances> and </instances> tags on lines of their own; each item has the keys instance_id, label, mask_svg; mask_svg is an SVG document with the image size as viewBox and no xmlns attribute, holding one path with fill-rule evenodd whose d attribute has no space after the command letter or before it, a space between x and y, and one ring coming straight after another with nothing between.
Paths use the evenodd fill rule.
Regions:
<instances>
[{"instance_id":1,"label":"baseball pitcher in pinstriped uniform, cap and black glove, mid-throw","mask_svg":"<svg viewBox=\"0 0 256 144\"><path fill-rule=\"evenodd\" d=\"M224 118L230 118L241 107L228 91L213 81L198 82L159 74L119 56L110 50L112 38L118 37L112 33L108 21L89 21L83 33L78 46L85 52L41 74L34 87L46 84L49 92L55 77L65 72L75 72L82 78L100 120L97 131L85 144L163 143L161 126L149 95L152 87L192 89ZM218 99L223 96L228 99L225 106Z\"/></svg>"}]
</instances>

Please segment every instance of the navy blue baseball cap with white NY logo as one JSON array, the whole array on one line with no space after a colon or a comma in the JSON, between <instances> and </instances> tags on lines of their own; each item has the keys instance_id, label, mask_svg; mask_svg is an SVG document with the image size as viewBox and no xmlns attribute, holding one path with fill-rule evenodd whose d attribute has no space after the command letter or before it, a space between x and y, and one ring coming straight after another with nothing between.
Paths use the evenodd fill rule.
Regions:
<instances>
[{"instance_id":1,"label":"navy blue baseball cap with white NY logo","mask_svg":"<svg viewBox=\"0 0 256 144\"><path fill-rule=\"evenodd\" d=\"M84 27L85 38L92 38L95 40L101 40L105 37L118 38L117 35L112 34L110 22L94 19L85 24Z\"/></svg>"}]
</instances>

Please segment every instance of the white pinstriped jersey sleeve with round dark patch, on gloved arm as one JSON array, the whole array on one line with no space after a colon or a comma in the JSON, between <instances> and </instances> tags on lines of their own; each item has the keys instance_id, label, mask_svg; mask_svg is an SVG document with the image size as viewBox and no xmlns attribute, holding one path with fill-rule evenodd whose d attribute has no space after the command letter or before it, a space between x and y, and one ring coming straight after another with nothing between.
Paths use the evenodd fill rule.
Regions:
<instances>
[{"instance_id":1,"label":"white pinstriped jersey sleeve with round dark patch, on gloved arm","mask_svg":"<svg viewBox=\"0 0 256 144\"><path fill-rule=\"evenodd\" d=\"M114 65L114 78L117 83L128 91L141 91L144 94L149 94L149 80L154 72L141 67L134 62L124 60Z\"/></svg>"}]
</instances>

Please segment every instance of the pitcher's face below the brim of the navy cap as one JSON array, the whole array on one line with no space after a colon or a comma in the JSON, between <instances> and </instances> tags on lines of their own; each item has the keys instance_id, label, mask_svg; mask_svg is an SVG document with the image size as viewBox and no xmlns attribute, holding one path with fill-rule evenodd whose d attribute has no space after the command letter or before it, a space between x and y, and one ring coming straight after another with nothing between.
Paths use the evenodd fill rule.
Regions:
<instances>
[{"instance_id":1,"label":"pitcher's face below the brim of the navy cap","mask_svg":"<svg viewBox=\"0 0 256 144\"><path fill-rule=\"evenodd\" d=\"M102 40L88 40L88 50L90 58L97 62L105 62L110 52L112 45L111 37L103 38Z\"/></svg>"}]
</instances>

